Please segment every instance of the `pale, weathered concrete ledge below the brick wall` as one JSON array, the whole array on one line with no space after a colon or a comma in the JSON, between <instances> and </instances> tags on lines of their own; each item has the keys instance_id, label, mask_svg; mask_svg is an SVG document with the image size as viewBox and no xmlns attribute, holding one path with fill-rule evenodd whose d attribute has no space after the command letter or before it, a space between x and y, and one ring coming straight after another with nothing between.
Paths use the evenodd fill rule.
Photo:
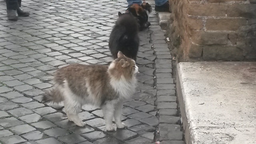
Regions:
<instances>
[{"instance_id":1,"label":"pale, weathered concrete ledge below the brick wall","mask_svg":"<svg viewBox=\"0 0 256 144\"><path fill-rule=\"evenodd\" d=\"M255 144L256 62L181 62L177 71L187 144Z\"/></svg>"}]
</instances>

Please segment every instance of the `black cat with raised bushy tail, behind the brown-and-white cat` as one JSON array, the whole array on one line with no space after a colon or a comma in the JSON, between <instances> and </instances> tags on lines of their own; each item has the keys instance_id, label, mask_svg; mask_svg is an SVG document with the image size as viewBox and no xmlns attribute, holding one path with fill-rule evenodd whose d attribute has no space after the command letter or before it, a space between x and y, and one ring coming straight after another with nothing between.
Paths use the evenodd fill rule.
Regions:
<instances>
[{"instance_id":1,"label":"black cat with raised bushy tail, behind the brown-and-white cat","mask_svg":"<svg viewBox=\"0 0 256 144\"><path fill-rule=\"evenodd\" d=\"M130 13L118 12L118 16L109 38L110 52L114 59L118 51L121 51L128 58L136 60L140 43L136 18Z\"/></svg>"}]
</instances>

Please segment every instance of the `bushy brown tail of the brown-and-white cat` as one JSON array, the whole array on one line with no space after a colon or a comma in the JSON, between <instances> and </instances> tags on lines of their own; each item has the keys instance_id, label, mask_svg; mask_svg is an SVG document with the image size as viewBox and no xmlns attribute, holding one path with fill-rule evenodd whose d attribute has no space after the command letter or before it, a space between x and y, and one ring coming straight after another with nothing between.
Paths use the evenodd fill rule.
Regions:
<instances>
[{"instance_id":1,"label":"bushy brown tail of the brown-and-white cat","mask_svg":"<svg viewBox=\"0 0 256 144\"><path fill-rule=\"evenodd\" d=\"M63 101L62 93L58 88L52 88L50 90L45 91L42 97L42 102L53 102L59 103Z\"/></svg>"}]
</instances>

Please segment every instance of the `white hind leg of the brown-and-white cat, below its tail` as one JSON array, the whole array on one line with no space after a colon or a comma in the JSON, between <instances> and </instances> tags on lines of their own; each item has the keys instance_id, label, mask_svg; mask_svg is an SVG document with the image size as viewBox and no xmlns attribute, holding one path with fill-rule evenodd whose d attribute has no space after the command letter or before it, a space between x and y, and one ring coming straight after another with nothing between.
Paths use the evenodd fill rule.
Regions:
<instances>
[{"instance_id":1,"label":"white hind leg of the brown-and-white cat, below its tail","mask_svg":"<svg viewBox=\"0 0 256 144\"><path fill-rule=\"evenodd\" d=\"M64 98L64 108L68 116L68 120L74 122L77 126L85 126L86 123L83 122L78 116L82 103L77 99L77 96L75 96L69 90L65 90Z\"/></svg>"}]
</instances>

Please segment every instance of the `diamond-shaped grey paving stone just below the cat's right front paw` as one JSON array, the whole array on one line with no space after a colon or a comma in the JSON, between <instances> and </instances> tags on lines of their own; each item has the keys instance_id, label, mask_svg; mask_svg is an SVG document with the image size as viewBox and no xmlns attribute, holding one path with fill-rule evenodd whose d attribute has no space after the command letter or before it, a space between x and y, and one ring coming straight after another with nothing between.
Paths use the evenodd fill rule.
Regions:
<instances>
[{"instance_id":1,"label":"diamond-shaped grey paving stone just below the cat's right front paw","mask_svg":"<svg viewBox=\"0 0 256 144\"><path fill-rule=\"evenodd\" d=\"M130 140L132 138L135 138L137 136L137 133L132 132L131 130L121 130L120 129L120 130L116 130L111 135L119 140L126 141L126 140Z\"/></svg>"}]
</instances>

